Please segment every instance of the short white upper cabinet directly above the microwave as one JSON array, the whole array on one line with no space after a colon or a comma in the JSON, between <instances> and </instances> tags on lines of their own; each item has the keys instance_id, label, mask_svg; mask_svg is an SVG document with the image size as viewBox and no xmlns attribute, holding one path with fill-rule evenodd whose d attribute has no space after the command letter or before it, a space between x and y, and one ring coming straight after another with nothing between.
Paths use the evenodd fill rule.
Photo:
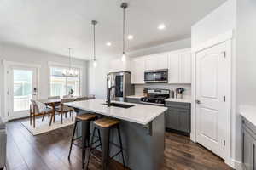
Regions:
<instances>
[{"instance_id":1,"label":"short white upper cabinet directly above the microwave","mask_svg":"<svg viewBox=\"0 0 256 170\"><path fill-rule=\"evenodd\" d=\"M160 70L168 68L168 54L149 55L145 59L146 70Z\"/></svg>"}]
</instances>

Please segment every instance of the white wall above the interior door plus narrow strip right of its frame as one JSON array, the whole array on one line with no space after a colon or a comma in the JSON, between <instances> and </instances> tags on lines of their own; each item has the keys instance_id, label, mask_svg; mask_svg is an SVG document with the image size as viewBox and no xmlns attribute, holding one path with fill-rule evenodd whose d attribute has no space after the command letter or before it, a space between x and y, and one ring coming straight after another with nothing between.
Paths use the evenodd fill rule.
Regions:
<instances>
[{"instance_id":1,"label":"white wall above the interior door plus narrow strip right of its frame","mask_svg":"<svg viewBox=\"0 0 256 170\"><path fill-rule=\"evenodd\" d=\"M238 0L241 1L241 0ZM242 0L243 1L243 0ZM212 11L205 18L197 22L191 28L191 46L199 48L208 40L218 37L228 31L233 30L233 55L232 55L232 104L236 105L236 0L228 0L220 7ZM231 116L231 160L241 161L241 126L237 121L236 108L232 108ZM237 127L240 127L239 129ZM231 162L233 163L233 162Z\"/></svg>"}]
</instances>

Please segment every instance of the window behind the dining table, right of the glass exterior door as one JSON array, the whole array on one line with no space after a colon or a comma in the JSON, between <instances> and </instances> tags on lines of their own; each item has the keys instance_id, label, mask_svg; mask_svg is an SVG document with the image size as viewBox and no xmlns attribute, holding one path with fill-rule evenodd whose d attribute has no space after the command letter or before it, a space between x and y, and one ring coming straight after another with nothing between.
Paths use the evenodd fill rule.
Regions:
<instances>
[{"instance_id":1,"label":"window behind the dining table, right of the glass exterior door","mask_svg":"<svg viewBox=\"0 0 256 170\"><path fill-rule=\"evenodd\" d=\"M63 72L68 68L65 67L50 67L50 96L68 95L73 90L74 96L80 96L80 69L78 77L63 76Z\"/></svg>"}]
</instances>

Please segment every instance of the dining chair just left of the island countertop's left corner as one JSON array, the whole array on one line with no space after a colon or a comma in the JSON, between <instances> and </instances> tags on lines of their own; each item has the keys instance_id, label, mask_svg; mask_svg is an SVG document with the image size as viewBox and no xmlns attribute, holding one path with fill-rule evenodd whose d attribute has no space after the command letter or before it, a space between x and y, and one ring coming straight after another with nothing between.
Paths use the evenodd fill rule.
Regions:
<instances>
[{"instance_id":1,"label":"dining chair just left of the island countertop's left corner","mask_svg":"<svg viewBox=\"0 0 256 170\"><path fill-rule=\"evenodd\" d=\"M74 99L73 98L69 98L69 99L61 99L61 105L60 107L56 108L56 112L58 112L59 114L61 114L61 124L63 123L63 114L65 114L66 118L67 118L67 113L69 112L69 116L72 116L72 121L73 121L73 113L74 110L72 107L69 107L67 105L64 105L65 103L68 102L73 102Z\"/></svg>"}]
</instances>

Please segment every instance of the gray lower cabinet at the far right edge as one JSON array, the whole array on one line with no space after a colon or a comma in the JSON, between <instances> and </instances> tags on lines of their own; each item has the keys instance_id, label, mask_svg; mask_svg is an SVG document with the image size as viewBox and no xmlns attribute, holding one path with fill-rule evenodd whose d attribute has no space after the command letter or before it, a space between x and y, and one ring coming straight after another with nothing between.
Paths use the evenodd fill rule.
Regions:
<instances>
[{"instance_id":1,"label":"gray lower cabinet at the far right edge","mask_svg":"<svg viewBox=\"0 0 256 170\"><path fill-rule=\"evenodd\" d=\"M243 142L243 154L242 161L246 170L255 170L256 163L256 127L250 122L243 119L242 125L242 142Z\"/></svg>"}]
</instances>

